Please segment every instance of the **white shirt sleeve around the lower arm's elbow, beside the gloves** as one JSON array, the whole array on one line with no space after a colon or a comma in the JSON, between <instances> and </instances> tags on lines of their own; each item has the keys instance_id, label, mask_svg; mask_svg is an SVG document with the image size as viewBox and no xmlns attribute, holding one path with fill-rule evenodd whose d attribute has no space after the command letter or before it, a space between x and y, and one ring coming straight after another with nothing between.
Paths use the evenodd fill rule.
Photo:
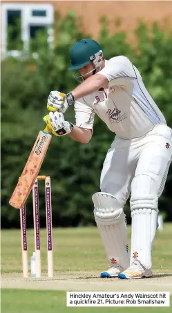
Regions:
<instances>
[{"instance_id":1,"label":"white shirt sleeve around the lower arm's elbow, beside the gloves","mask_svg":"<svg viewBox=\"0 0 172 313\"><path fill-rule=\"evenodd\" d=\"M74 109L76 126L84 129L93 129L95 112L93 108L87 104L84 98L75 101Z\"/></svg>"}]
</instances>

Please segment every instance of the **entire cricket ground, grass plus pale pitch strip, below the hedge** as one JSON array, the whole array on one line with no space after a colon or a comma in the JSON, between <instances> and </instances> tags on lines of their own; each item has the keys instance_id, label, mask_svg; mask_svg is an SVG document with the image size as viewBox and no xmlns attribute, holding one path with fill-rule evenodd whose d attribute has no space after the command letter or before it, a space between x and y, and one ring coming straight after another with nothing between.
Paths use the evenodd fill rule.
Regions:
<instances>
[{"instance_id":1,"label":"entire cricket ground, grass plus pale pitch strip, below the hedge","mask_svg":"<svg viewBox=\"0 0 172 313\"><path fill-rule=\"evenodd\" d=\"M27 234L28 258L30 258L34 251L33 230L29 229ZM157 278L150 278L150 280L127 282L119 282L117 278L115 280L98 278L99 272L106 269L108 262L97 227L53 229L52 234L55 279L54 281L46 281L46 229L41 229L41 269L45 279L44 281L37 281L35 279L23 280L22 278L20 231L1 231L2 313L144 313L145 310L152 313L171 312L169 307L66 307L66 292L63 290L84 291L82 287L81 289L74 288L75 284L79 283L82 286L90 286L90 290L103 290L102 288L106 288L110 291L117 290L119 286L121 290L125 290L123 289L123 286L125 286L128 291L141 291L147 290L147 287L151 285L152 290L158 290L158 288L161 290L163 286L164 290L167 289L165 289L166 285L163 285L163 275L161 275L161 281L158 275ZM130 238L130 227L128 227L128 235ZM171 279L172 277L171 238L171 224L164 225L164 231L157 231L153 245L153 274L155 276L157 273L164 273L164 276L166 276L164 278ZM157 287L158 281L159 287ZM64 283L66 284L65 288ZM170 281L168 283L170 285ZM42 288L44 290L41 290Z\"/></svg>"}]
</instances>

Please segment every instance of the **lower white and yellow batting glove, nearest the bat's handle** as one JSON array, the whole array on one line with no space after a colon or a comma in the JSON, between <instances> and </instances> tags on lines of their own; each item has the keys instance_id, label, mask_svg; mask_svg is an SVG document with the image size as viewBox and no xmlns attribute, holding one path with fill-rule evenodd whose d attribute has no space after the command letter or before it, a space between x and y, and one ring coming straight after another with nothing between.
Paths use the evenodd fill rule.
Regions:
<instances>
[{"instance_id":1,"label":"lower white and yellow batting glove, nearest the bat's handle","mask_svg":"<svg viewBox=\"0 0 172 313\"><path fill-rule=\"evenodd\" d=\"M44 122L46 122L48 129L50 129L51 133L55 136L64 136L70 133L73 129L73 124L70 122L66 122L64 120L63 113L50 112L46 116L44 116Z\"/></svg>"}]
</instances>

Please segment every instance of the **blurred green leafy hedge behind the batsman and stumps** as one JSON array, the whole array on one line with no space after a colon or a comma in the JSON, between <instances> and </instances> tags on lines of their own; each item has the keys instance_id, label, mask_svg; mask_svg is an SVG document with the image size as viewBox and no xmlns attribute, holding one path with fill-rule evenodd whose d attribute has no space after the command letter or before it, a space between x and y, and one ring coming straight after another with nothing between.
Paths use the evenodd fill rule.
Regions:
<instances>
[{"instance_id":1,"label":"blurred green leafy hedge behind the batsman and stumps","mask_svg":"<svg viewBox=\"0 0 172 313\"><path fill-rule=\"evenodd\" d=\"M23 169L30 149L46 114L46 99L52 90L64 93L77 84L70 65L69 49L72 44L90 37L80 31L80 21L69 13L66 19L57 17L55 42L49 49L44 35L36 42L38 58L24 53L19 59L3 59L1 62L1 226L19 227L19 211L8 205L8 200ZM157 23L147 28L140 23L135 30L137 44L129 46L124 32L108 33L108 21L102 19L99 43L105 58L126 55L139 68L149 92L172 126L172 32L161 30ZM38 43L38 44L37 44ZM30 45L32 46L32 45ZM34 45L33 45L34 46ZM31 51L30 51L31 52ZM75 122L73 108L66 112L66 120ZM89 144L79 144L70 137L52 138L40 174L52 178L53 225L91 225L93 203L91 196L99 191L99 176L106 151L114 134L106 125L95 119L94 135ZM162 197L160 210L166 220L171 220L172 171ZM46 212L44 184L40 182L41 226L45 226ZM130 211L126 205L128 220ZM28 227L32 226L32 199L28 199Z\"/></svg>"}]
</instances>

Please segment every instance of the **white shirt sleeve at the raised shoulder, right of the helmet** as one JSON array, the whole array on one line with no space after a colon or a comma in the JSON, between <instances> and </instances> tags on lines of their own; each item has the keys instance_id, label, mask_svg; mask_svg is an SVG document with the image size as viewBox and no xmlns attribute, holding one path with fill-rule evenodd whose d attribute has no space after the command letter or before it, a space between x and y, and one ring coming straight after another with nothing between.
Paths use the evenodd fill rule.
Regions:
<instances>
[{"instance_id":1,"label":"white shirt sleeve at the raised shoulder, right of the helmet","mask_svg":"<svg viewBox=\"0 0 172 313\"><path fill-rule=\"evenodd\" d=\"M113 57L105 64L105 67L99 71L99 74L104 75L108 82L113 81L117 84L127 84L128 80L135 79L135 70L131 61L124 56Z\"/></svg>"}]
</instances>

